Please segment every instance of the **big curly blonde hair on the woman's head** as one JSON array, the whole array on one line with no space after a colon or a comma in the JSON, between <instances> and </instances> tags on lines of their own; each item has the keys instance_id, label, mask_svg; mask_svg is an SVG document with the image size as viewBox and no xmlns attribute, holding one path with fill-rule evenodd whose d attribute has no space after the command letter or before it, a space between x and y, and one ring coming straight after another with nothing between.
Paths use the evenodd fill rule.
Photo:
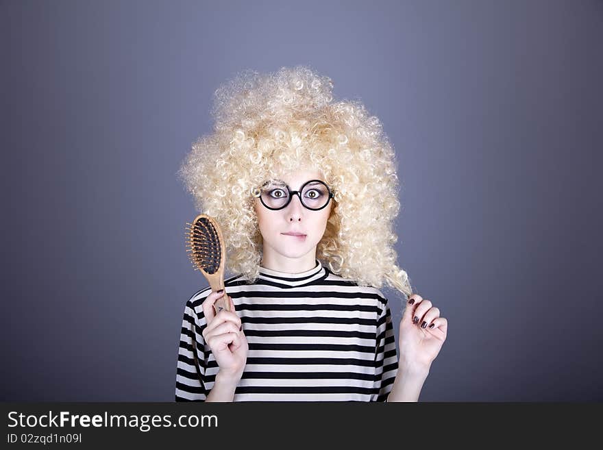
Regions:
<instances>
[{"instance_id":1,"label":"big curly blonde hair on the woman's head","mask_svg":"<svg viewBox=\"0 0 603 450\"><path fill-rule=\"evenodd\" d=\"M251 191L297 166L317 168L334 192L316 258L358 286L412 295L396 264L400 204L395 153L359 101L333 101L333 82L308 66L246 70L214 92L212 134L198 138L177 175L195 208L216 218L227 269L256 281L262 236Z\"/></svg>"}]
</instances>

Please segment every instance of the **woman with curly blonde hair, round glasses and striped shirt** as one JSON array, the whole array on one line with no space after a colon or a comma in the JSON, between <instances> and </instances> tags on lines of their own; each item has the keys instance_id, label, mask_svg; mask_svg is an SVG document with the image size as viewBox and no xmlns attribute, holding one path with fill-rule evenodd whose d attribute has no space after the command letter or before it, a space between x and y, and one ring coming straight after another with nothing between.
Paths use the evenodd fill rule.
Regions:
<instances>
[{"instance_id":1,"label":"woman with curly blonde hair, round glasses and striped shirt","mask_svg":"<svg viewBox=\"0 0 603 450\"><path fill-rule=\"evenodd\" d=\"M447 334L396 263L395 153L306 66L216 91L180 176L221 225L226 292L186 302L176 401L417 401ZM404 294L396 354L383 283ZM212 305L229 297L232 311Z\"/></svg>"}]
</instances>

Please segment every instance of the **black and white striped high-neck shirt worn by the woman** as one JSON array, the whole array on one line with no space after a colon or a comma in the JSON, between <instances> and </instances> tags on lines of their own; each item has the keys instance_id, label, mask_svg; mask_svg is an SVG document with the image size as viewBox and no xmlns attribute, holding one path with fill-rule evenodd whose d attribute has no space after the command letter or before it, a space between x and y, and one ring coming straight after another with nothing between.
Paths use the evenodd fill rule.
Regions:
<instances>
[{"instance_id":1,"label":"black and white striped high-neck shirt worn by the woman","mask_svg":"<svg viewBox=\"0 0 603 450\"><path fill-rule=\"evenodd\" d=\"M260 266L254 284L225 280L249 343L234 401L386 401L397 373L386 297L329 271ZM201 334L207 287L184 307L176 401L205 401L219 370Z\"/></svg>"}]
</instances>

